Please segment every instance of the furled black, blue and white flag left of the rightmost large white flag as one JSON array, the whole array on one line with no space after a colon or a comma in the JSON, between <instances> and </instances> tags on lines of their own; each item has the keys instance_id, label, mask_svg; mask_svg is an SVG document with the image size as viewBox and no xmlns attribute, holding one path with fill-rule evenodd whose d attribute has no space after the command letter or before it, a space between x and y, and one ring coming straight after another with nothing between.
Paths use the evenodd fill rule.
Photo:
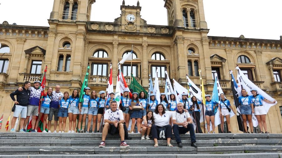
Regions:
<instances>
[{"instance_id":1,"label":"furled black, blue and white flag left of the rightmost large white flag","mask_svg":"<svg viewBox=\"0 0 282 158\"><path fill-rule=\"evenodd\" d=\"M234 98L234 105L237 109L237 123L238 123L238 128L240 131L244 132L244 127L243 127L243 122L241 120L241 113L240 113L240 103L239 103L239 100L238 100L238 92L237 92L237 89L239 88L238 85L237 85L237 82L232 74L232 71L229 72L230 75L231 75L231 88L232 88L232 93L233 93L233 98Z\"/></svg>"}]
</instances>

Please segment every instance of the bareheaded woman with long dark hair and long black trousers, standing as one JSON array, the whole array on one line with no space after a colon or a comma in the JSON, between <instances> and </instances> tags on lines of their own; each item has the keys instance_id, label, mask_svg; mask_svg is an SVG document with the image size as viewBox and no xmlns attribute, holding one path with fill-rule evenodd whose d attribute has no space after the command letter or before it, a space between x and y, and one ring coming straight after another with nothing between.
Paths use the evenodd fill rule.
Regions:
<instances>
[{"instance_id":1,"label":"bareheaded woman with long dark hair and long black trousers, standing","mask_svg":"<svg viewBox=\"0 0 282 158\"><path fill-rule=\"evenodd\" d=\"M201 110L199 104L201 104L201 101L197 101L196 96L192 96L191 100L192 100L192 106L190 107L190 110L192 111L192 116L196 120L196 133L203 133L200 126Z\"/></svg>"}]
</instances>

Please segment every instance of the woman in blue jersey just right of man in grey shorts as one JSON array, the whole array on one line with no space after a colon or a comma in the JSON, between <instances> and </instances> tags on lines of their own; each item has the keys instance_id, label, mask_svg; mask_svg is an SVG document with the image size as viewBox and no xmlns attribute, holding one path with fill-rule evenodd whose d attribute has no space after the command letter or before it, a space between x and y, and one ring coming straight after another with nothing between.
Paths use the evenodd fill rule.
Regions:
<instances>
[{"instance_id":1,"label":"woman in blue jersey just right of man in grey shorts","mask_svg":"<svg viewBox=\"0 0 282 158\"><path fill-rule=\"evenodd\" d=\"M69 98L69 92L65 91L64 92L64 97L60 100L59 102L59 112L58 112L58 117L59 117L59 133L65 132L65 123L66 119L68 117L68 108L70 105L70 98ZM63 128L62 128L62 122L63 123Z\"/></svg>"}]
</instances>

